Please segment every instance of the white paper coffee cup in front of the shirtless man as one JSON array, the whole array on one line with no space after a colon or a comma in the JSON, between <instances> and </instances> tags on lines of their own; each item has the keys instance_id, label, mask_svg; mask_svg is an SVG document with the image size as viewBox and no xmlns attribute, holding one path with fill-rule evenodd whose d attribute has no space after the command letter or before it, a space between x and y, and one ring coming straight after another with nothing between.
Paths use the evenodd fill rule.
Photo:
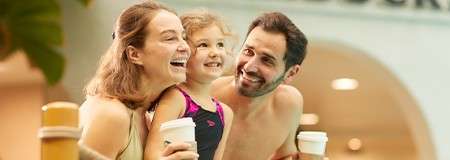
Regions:
<instances>
[{"instance_id":1,"label":"white paper coffee cup in front of the shirtless man","mask_svg":"<svg viewBox=\"0 0 450 160\"><path fill-rule=\"evenodd\" d=\"M302 153L324 155L327 133L317 131L302 131L297 135L298 148Z\"/></svg>"}]
</instances>

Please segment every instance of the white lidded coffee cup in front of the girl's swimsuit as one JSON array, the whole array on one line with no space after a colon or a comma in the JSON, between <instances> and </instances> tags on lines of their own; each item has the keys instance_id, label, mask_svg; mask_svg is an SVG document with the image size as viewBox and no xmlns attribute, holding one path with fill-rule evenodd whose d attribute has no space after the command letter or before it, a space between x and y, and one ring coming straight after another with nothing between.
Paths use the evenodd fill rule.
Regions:
<instances>
[{"instance_id":1,"label":"white lidded coffee cup in front of the girl's swimsuit","mask_svg":"<svg viewBox=\"0 0 450 160\"><path fill-rule=\"evenodd\" d=\"M164 122L159 131L168 143L195 142L195 123L190 117Z\"/></svg>"}]
</instances>

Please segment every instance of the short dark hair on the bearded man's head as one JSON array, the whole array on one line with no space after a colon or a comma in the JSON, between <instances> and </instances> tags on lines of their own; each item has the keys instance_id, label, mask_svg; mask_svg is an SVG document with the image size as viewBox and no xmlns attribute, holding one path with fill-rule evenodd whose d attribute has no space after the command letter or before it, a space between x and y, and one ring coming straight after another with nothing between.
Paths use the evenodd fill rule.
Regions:
<instances>
[{"instance_id":1,"label":"short dark hair on the bearded man's head","mask_svg":"<svg viewBox=\"0 0 450 160\"><path fill-rule=\"evenodd\" d=\"M295 64L302 64L306 56L308 40L288 17L280 12L264 13L250 24L247 36L258 26L267 32L282 33L286 38L287 50L283 57L286 70Z\"/></svg>"}]
</instances>

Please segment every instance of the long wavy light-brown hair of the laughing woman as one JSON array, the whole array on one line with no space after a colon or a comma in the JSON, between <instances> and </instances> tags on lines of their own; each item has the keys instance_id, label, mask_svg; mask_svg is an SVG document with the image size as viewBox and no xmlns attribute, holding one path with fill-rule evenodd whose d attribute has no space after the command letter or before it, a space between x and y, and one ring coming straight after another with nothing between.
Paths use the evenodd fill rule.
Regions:
<instances>
[{"instance_id":1,"label":"long wavy light-brown hair of the laughing woman","mask_svg":"<svg viewBox=\"0 0 450 160\"><path fill-rule=\"evenodd\" d=\"M85 88L86 95L101 96L120 100L128 108L142 105L145 95L140 92L142 66L132 63L126 48L143 48L146 26L161 10L173 12L155 1L133 5L123 11L113 33L113 43L102 56L95 76Z\"/></svg>"}]
</instances>

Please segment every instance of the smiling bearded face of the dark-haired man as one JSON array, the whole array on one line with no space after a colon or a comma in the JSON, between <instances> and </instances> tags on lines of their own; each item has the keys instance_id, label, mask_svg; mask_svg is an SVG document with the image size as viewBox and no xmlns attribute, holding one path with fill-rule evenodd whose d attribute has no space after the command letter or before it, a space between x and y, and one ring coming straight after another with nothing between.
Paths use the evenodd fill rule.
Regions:
<instances>
[{"instance_id":1,"label":"smiling bearded face of the dark-haired man","mask_svg":"<svg viewBox=\"0 0 450 160\"><path fill-rule=\"evenodd\" d=\"M254 28L237 59L235 83L240 94L258 97L273 91L285 78L286 39L282 33Z\"/></svg>"}]
</instances>

